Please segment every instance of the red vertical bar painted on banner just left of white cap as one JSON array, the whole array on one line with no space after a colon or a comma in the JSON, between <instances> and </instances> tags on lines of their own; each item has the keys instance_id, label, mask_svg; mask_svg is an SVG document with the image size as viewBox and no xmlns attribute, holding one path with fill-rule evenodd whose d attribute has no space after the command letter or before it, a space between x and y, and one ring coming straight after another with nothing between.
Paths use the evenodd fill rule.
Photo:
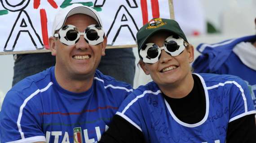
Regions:
<instances>
[{"instance_id":1,"label":"red vertical bar painted on banner just left of white cap","mask_svg":"<svg viewBox=\"0 0 256 143\"><path fill-rule=\"evenodd\" d=\"M48 41L47 16L44 9L40 9L40 17L41 17L41 28L42 28L44 48L49 49L50 46Z\"/></svg>"}]
</instances>

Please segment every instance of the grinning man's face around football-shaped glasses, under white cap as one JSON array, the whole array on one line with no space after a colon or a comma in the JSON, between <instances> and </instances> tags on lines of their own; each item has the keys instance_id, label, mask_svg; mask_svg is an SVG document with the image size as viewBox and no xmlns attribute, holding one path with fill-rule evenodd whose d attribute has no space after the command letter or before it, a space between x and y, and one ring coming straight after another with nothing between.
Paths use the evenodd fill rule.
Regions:
<instances>
[{"instance_id":1,"label":"grinning man's face around football-shaped glasses, under white cap","mask_svg":"<svg viewBox=\"0 0 256 143\"><path fill-rule=\"evenodd\" d=\"M97 24L92 17L85 14L75 14L66 19L64 25L74 25L79 32L89 26ZM67 78L84 80L91 78L100 63L101 56L105 55L106 38L96 46L89 45L84 36L80 35L75 45L67 46L59 38L50 38L52 55L56 56L56 70Z\"/></svg>"}]
</instances>

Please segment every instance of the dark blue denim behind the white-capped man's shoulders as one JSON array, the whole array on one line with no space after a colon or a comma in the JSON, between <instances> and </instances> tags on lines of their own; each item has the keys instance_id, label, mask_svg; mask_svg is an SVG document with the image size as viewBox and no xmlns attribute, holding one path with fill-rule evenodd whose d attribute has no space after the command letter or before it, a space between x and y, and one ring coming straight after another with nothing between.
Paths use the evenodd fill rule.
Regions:
<instances>
[{"instance_id":1,"label":"dark blue denim behind the white-capped man's shoulders","mask_svg":"<svg viewBox=\"0 0 256 143\"><path fill-rule=\"evenodd\" d=\"M13 85L27 76L55 65L55 57L51 53L17 55L14 62ZM132 48L106 49L106 55L97 68L104 75L133 85L135 75L135 57Z\"/></svg>"}]
</instances>

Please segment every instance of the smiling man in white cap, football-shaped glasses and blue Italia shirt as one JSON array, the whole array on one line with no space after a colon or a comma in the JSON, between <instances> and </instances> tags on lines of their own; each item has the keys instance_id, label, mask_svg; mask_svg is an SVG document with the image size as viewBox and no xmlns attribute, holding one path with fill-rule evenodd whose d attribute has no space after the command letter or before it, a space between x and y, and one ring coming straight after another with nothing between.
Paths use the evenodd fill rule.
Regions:
<instances>
[{"instance_id":1,"label":"smiling man in white cap, football-shaped glasses and blue Italia shirt","mask_svg":"<svg viewBox=\"0 0 256 143\"><path fill-rule=\"evenodd\" d=\"M60 10L49 42L55 67L25 78L4 99L2 143L97 142L132 91L96 70L107 39L93 8L73 4Z\"/></svg>"}]
</instances>

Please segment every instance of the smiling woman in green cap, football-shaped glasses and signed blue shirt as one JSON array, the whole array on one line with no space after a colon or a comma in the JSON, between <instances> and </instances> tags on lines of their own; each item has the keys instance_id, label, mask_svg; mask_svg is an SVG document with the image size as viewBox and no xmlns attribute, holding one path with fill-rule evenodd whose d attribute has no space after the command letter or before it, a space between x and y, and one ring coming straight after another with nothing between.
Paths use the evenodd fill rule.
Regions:
<instances>
[{"instance_id":1,"label":"smiling woman in green cap, football-shaped glasses and signed blue shirt","mask_svg":"<svg viewBox=\"0 0 256 143\"><path fill-rule=\"evenodd\" d=\"M251 95L237 76L192 74L178 23L155 18L137 33L140 66L152 82L122 103L102 143L255 143Z\"/></svg>"}]
</instances>

